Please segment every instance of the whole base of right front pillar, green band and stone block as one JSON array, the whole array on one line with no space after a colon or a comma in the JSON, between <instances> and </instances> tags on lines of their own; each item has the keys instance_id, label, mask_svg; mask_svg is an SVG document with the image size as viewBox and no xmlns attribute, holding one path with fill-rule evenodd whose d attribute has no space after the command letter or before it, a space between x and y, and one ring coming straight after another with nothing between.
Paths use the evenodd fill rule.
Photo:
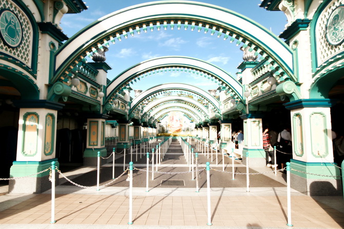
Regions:
<instances>
[{"instance_id":1,"label":"whole base of right front pillar, green band and stone block","mask_svg":"<svg viewBox=\"0 0 344 229\"><path fill-rule=\"evenodd\" d=\"M312 163L291 159L291 188L308 196L340 196L342 185L339 169L331 163ZM296 171L297 170L297 171ZM301 172L298 172L301 171ZM320 174L315 176L302 172Z\"/></svg>"}]
</instances>

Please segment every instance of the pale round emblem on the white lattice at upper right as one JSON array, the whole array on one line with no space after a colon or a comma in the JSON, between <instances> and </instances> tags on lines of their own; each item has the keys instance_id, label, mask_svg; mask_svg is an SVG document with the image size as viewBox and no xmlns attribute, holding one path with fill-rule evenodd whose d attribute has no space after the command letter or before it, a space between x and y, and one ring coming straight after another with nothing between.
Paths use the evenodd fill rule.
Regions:
<instances>
[{"instance_id":1,"label":"pale round emblem on the white lattice at upper right","mask_svg":"<svg viewBox=\"0 0 344 229\"><path fill-rule=\"evenodd\" d=\"M335 8L327 22L326 38L331 45L337 46L344 41L344 5Z\"/></svg>"}]
</instances>

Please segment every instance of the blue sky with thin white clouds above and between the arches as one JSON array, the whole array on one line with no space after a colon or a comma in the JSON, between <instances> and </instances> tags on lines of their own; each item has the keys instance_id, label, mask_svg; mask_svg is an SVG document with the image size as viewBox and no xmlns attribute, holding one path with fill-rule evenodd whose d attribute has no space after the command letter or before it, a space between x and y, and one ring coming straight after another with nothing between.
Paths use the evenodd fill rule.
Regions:
<instances>
[{"instance_id":1,"label":"blue sky with thin white clouds above and between the arches","mask_svg":"<svg viewBox=\"0 0 344 229\"><path fill-rule=\"evenodd\" d=\"M94 22L98 18L125 7L146 3L142 0L90 0L86 2L88 10L79 14L66 14L61 20L63 32L71 37L79 30ZM203 2L217 5L236 11L249 17L274 34L279 35L284 30L286 17L283 12L271 12L260 8L260 0L202 0ZM101 3L101 4L100 4ZM133 37L122 39L115 45L110 44L106 52L106 63L112 68L108 71L108 79L112 80L124 70L141 61L161 56L189 56L205 60L236 77L237 67L242 62L243 52L229 39L211 36L208 32L197 32L188 30L154 30L147 33L135 32ZM89 59L89 61L92 61ZM139 83L131 85L132 89L147 90L159 84L168 82L181 82L199 87L205 91L217 89L217 85L209 82L203 77L187 73L163 73L140 80ZM132 92L133 93L133 92ZM133 96L133 95L132 95Z\"/></svg>"}]
</instances>

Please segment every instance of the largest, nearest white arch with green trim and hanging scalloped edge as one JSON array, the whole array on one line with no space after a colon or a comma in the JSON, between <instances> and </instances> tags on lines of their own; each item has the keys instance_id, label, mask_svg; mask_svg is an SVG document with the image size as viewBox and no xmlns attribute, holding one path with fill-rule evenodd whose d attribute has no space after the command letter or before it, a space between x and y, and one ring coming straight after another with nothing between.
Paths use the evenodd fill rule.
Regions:
<instances>
[{"instance_id":1,"label":"largest, nearest white arch with green trim and hanging scalloped edge","mask_svg":"<svg viewBox=\"0 0 344 229\"><path fill-rule=\"evenodd\" d=\"M195 14L193 14L195 12ZM197 13L197 14L196 14ZM217 37L236 41L236 45L250 47L260 59L272 64L275 74L293 76L291 49L276 35L253 20L236 12L218 6L199 2L152 2L128 7L108 14L90 24L71 37L56 52L55 82L60 77L69 77L77 71L78 62L91 57L91 52L114 44L115 38L121 40L147 30L191 28L203 30ZM142 29L142 30L141 30ZM284 77L286 79L288 77Z\"/></svg>"}]
</instances>

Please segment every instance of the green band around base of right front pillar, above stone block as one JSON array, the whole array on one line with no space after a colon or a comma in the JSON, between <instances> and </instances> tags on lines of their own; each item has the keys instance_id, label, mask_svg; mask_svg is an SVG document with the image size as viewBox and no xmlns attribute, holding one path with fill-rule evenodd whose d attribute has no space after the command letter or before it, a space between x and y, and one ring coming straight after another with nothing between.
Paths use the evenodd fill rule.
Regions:
<instances>
[{"instance_id":1,"label":"green band around base of right front pillar, above stone block","mask_svg":"<svg viewBox=\"0 0 344 229\"><path fill-rule=\"evenodd\" d=\"M299 177L306 179L336 179L340 180L340 177L326 177L326 176L340 176L340 171L336 167L335 163L326 162L304 162L295 159L290 160L291 173ZM300 172L299 172L300 171ZM312 175L306 173L319 174ZM321 176L325 175L325 176Z\"/></svg>"}]
</instances>

